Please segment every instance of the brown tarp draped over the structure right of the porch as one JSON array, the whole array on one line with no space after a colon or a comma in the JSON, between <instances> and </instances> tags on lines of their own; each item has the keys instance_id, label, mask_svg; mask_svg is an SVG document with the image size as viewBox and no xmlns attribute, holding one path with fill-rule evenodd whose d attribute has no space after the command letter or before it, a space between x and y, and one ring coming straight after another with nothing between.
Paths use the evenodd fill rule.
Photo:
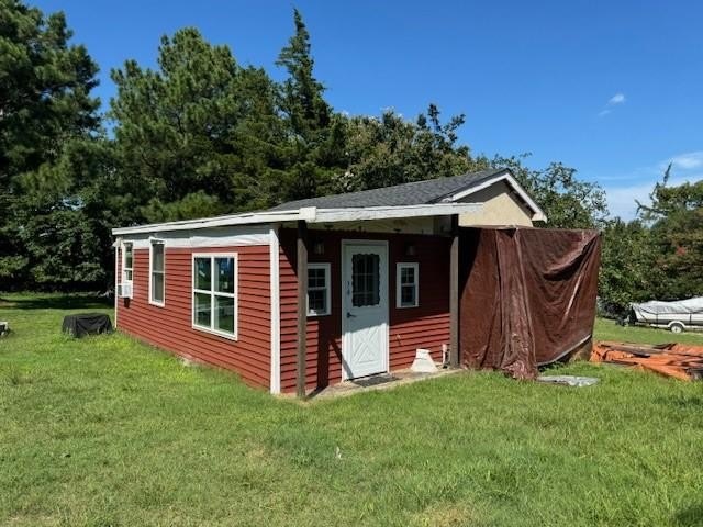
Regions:
<instances>
[{"instance_id":1,"label":"brown tarp draped over the structure right of the porch","mask_svg":"<svg viewBox=\"0 0 703 527\"><path fill-rule=\"evenodd\" d=\"M462 228L460 341L470 368L534 379L537 367L590 344L595 231Z\"/></svg>"}]
</instances>

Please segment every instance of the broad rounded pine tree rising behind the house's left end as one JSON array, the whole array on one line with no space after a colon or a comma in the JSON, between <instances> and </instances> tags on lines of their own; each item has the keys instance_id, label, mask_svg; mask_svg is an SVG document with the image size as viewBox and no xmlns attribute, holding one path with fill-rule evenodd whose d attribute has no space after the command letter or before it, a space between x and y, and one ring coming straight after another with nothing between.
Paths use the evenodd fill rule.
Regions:
<instances>
[{"instance_id":1,"label":"broad rounded pine tree rising behind the house's left end","mask_svg":"<svg viewBox=\"0 0 703 527\"><path fill-rule=\"evenodd\" d=\"M158 70L112 71L119 179L134 222L268 205L281 134L274 83L196 29L164 36Z\"/></svg>"}]
</instances>

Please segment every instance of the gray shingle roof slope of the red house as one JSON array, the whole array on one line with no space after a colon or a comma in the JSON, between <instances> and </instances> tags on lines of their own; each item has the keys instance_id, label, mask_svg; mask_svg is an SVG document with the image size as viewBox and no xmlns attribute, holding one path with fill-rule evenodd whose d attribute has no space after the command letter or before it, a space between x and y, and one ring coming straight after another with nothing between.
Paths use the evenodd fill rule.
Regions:
<instances>
[{"instance_id":1,"label":"gray shingle roof slope of the red house","mask_svg":"<svg viewBox=\"0 0 703 527\"><path fill-rule=\"evenodd\" d=\"M323 195L308 200L289 201L270 210L291 211L303 206L345 209L355 206L402 206L438 203L443 198L481 184L487 179L504 171L505 169L483 170L450 178L428 179L381 189L349 192L347 194Z\"/></svg>"}]
</instances>

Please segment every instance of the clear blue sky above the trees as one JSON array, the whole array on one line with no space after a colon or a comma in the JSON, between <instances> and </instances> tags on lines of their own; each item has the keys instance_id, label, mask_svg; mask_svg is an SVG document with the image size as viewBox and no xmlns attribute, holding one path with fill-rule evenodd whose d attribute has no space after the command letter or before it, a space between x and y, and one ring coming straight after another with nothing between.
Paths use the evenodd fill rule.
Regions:
<instances>
[{"instance_id":1,"label":"clear blue sky above the trees","mask_svg":"<svg viewBox=\"0 0 703 527\"><path fill-rule=\"evenodd\" d=\"M598 181L611 211L634 215L667 162L672 182L703 178L703 2L38 0L63 10L101 68L153 66L158 41L198 27L242 64L274 63L298 7L316 76L336 110L414 117L427 103L465 113L476 153L529 152Z\"/></svg>"}]
</instances>

